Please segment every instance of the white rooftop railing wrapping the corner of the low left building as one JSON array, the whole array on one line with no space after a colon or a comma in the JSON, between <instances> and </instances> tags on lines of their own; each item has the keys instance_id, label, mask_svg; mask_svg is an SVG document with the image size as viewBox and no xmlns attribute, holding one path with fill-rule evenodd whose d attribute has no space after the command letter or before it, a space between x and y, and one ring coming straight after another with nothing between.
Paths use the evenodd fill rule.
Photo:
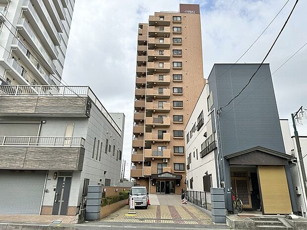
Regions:
<instances>
[{"instance_id":1,"label":"white rooftop railing wrapping the corner of the low left building","mask_svg":"<svg viewBox=\"0 0 307 230\"><path fill-rule=\"evenodd\" d=\"M121 136L121 129L88 86L0 86L0 96L87 96Z\"/></svg>"}]
</instances>

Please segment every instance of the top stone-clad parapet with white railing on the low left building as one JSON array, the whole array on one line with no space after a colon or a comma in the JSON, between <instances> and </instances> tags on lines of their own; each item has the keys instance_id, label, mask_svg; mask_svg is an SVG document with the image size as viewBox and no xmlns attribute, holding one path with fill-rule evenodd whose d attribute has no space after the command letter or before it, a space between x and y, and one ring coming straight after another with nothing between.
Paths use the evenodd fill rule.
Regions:
<instances>
[{"instance_id":1,"label":"top stone-clad parapet with white railing on the low left building","mask_svg":"<svg viewBox=\"0 0 307 230\"><path fill-rule=\"evenodd\" d=\"M0 116L90 117L92 106L121 130L88 86L0 86Z\"/></svg>"}]
</instances>

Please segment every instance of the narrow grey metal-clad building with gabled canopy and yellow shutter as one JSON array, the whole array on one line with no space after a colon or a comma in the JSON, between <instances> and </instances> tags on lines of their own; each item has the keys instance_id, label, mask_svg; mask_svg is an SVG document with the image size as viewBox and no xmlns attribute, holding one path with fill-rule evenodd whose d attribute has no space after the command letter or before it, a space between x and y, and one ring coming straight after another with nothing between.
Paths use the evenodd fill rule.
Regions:
<instances>
[{"instance_id":1,"label":"narrow grey metal-clad building with gabled canopy and yellow shutter","mask_svg":"<svg viewBox=\"0 0 307 230\"><path fill-rule=\"evenodd\" d=\"M258 66L214 64L208 77L208 110L216 115L211 121L219 143L214 150L218 184L225 187L230 212L232 194L239 196L246 209L261 207L264 214L296 212L288 165L291 156L285 153L269 64L263 64L246 89L223 107L246 86ZM270 198L269 187L275 187L276 199Z\"/></svg>"}]
</instances>

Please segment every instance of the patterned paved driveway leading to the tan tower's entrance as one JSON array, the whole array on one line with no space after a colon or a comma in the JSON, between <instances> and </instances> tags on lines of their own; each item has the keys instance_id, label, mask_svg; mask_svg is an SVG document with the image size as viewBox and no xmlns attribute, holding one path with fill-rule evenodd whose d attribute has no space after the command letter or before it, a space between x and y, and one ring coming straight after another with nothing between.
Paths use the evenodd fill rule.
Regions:
<instances>
[{"instance_id":1,"label":"patterned paved driveway leading to the tan tower's entrance","mask_svg":"<svg viewBox=\"0 0 307 230\"><path fill-rule=\"evenodd\" d=\"M131 215L125 206L100 222L212 225L211 218L204 212L190 204L182 204L179 195L151 194L150 201L148 209L136 209Z\"/></svg>"}]
</instances>

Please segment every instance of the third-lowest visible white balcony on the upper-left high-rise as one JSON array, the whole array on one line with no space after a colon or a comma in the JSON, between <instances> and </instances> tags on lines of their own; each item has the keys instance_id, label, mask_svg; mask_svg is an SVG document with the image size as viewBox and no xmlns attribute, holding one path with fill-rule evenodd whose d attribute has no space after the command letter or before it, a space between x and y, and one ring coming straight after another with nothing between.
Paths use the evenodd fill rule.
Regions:
<instances>
[{"instance_id":1,"label":"third-lowest visible white balcony on the upper-left high-rise","mask_svg":"<svg viewBox=\"0 0 307 230\"><path fill-rule=\"evenodd\" d=\"M44 46L42 46L41 42L32 31L32 29L30 28L29 24L26 22L26 20L24 18L19 18L16 27L17 29L19 29L19 33L21 34L21 36L24 37L29 42L29 44L33 46L36 49L36 51L40 53L40 55L44 58L42 59L41 57L39 57L40 63L42 63L42 65L44 65L46 69L48 68L55 69L52 59L45 50ZM47 62L48 64L46 64L45 62Z\"/></svg>"}]
</instances>

